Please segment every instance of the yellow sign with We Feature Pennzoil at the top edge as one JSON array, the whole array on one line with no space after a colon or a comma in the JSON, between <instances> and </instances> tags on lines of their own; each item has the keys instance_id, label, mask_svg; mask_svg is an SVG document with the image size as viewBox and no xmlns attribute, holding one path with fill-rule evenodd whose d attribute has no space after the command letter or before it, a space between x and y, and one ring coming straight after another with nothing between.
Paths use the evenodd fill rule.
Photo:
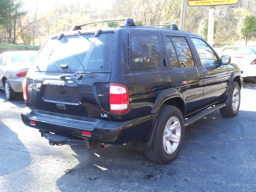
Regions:
<instances>
[{"instance_id":1,"label":"yellow sign with We Feature Pennzoil at the top edge","mask_svg":"<svg viewBox=\"0 0 256 192\"><path fill-rule=\"evenodd\" d=\"M239 0L188 0L189 6L217 6L217 5L234 5Z\"/></svg>"}]
</instances>

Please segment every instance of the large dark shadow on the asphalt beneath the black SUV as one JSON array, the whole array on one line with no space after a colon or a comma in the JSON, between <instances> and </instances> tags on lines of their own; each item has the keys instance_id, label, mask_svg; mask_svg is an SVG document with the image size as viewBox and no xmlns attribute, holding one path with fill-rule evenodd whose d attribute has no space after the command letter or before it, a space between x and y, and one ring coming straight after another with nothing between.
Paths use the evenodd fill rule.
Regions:
<instances>
[{"instance_id":1,"label":"large dark shadow on the asphalt beneath the black SUV","mask_svg":"<svg viewBox=\"0 0 256 192\"><path fill-rule=\"evenodd\" d=\"M72 146L79 163L66 170L56 185L60 191L193 191L207 190L209 185L213 191L219 186L224 191L238 190L236 186L248 181L239 177L232 181L234 186L228 186L223 180L228 182L234 176L226 178L226 174L221 173L255 176L252 173L256 170L255 118L246 119L248 116L256 117L256 112L240 111L234 118L224 118L220 112L214 112L189 126L180 154L167 165L150 162L142 150L131 144L106 150L99 146L92 149ZM248 120L248 124L240 123L240 118ZM245 134L246 131L251 135ZM247 150L241 150L241 143ZM244 166L242 170L241 166ZM205 178L218 179L208 179L198 186L198 180Z\"/></svg>"}]
</instances>

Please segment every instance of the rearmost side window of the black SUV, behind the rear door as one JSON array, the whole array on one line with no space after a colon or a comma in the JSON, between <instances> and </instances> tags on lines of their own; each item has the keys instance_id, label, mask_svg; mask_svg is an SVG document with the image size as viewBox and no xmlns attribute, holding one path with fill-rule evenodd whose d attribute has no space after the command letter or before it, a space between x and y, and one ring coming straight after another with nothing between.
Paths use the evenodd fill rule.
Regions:
<instances>
[{"instance_id":1,"label":"rearmost side window of the black SUV, behind the rear door","mask_svg":"<svg viewBox=\"0 0 256 192\"><path fill-rule=\"evenodd\" d=\"M130 70L160 68L160 40L156 31L130 30Z\"/></svg>"}]
</instances>

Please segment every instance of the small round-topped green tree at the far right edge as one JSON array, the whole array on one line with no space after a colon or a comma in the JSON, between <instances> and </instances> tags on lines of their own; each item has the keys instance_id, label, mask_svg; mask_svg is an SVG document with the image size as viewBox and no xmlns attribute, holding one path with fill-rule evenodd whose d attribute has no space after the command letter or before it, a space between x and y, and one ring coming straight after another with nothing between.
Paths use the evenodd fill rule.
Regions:
<instances>
[{"instance_id":1,"label":"small round-topped green tree at the far right edge","mask_svg":"<svg viewBox=\"0 0 256 192\"><path fill-rule=\"evenodd\" d=\"M245 44L247 45L248 35L256 30L256 17L246 16L241 22L240 33L245 36Z\"/></svg>"}]
</instances>

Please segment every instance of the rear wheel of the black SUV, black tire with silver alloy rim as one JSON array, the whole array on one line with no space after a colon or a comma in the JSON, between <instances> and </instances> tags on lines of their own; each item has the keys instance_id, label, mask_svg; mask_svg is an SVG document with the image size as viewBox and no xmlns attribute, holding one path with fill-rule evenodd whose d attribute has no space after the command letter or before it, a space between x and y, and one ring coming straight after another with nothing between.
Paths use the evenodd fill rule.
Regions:
<instances>
[{"instance_id":1,"label":"rear wheel of the black SUV, black tire with silver alloy rim","mask_svg":"<svg viewBox=\"0 0 256 192\"><path fill-rule=\"evenodd\" d=\"M163 106L156 121L152 147L144 151L146 157L161 164L170 163L180 151L184 130L184 118L180 110L175 106Z\"/></svg>"}]
</instances>

